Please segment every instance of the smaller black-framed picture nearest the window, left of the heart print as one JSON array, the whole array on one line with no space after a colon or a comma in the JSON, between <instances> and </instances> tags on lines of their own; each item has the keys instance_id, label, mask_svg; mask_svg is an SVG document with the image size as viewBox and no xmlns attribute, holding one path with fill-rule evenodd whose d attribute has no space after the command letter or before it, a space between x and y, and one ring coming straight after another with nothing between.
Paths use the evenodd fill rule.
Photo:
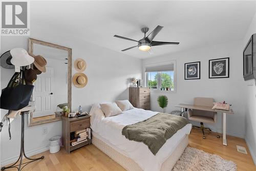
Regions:
<instances>
[{"instance_id":1,"label":"smaller black-framed picture nearest the window, left of the heart print","mask_svg":"<svg viewBox=\"0 0 256 171\"><path fill-rule=\"evenodd\" d=\"M184 79L189 80L189 79L200 79L201 78L201 68L200 68L200 61L197 62L189 62L189 63L184 63ZM189 67L192 67L196 69L195 74L189 74L188 69Z\"/></svg>"}]
</instances>

